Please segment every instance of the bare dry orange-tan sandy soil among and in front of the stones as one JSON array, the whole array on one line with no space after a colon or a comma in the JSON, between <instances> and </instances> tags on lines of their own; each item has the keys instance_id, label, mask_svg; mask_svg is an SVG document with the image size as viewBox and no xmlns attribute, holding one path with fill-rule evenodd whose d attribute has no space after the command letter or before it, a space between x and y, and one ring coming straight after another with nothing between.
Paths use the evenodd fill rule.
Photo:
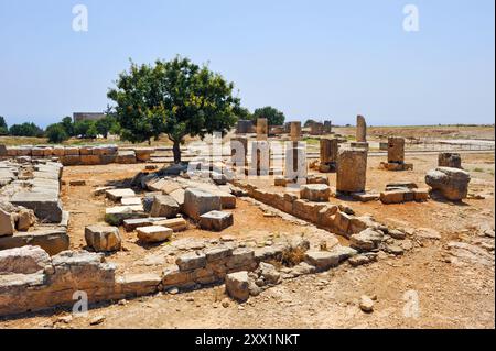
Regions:
<instances>
[{"instance_id":1,"label":"bare dry orange-tan sandy soil among and in front of the stones","mask_svg":"<svg viewBox=\"0 0 496 351\"><path fill-rule=\"evenodd\" d=\"M436 164L435 155L407 156L414 164L412 172L378 169L381 157L370 157L367 187L382 190L391 180L411 180L424 185L425 172ZM493 259L451 260L449 242L477 240L481 226L494 229L494 154L466 154L464 167L471 172L471 198L463 204L430 200L424 204L385 206L380 202L347 205L358 215L370 213L378 221L401 228L430 228L440 240L419 242L401 257L381 256L377 263L358 268L348 264L317 275L309 275L268 289L239 306L225 299L223 287L181 295L159 294L122 304L94 306L89 316L74 318L71 323L57 322L67 310L22 316L0 321L0 328L494 328L495 282ZM73 249L84 246L84 226L103 220L106 207L103 197L95 198L97 186L129 182L143 165L66 167L63 179L85 179L82 187L64 186L63 201L72 213L69 235ZM127 180L126 180L127 179ZM331 185L335 175L330 175ZM257 184L260 185L260 184ZM266 185L267 186L267 185ZM267 186L270 187L270 186ZM483 199L476 199L475 195ZM333 199L335 202L341 200ZM234 210L235 226L223 232L237 238L262 241L271 233L301 233L301 227L281 218L266 217L259 207L238 200ZM160 246L143 248L133 233L125 235L126 251L108 256L118 263L119 272L160 272L148 265ZM218 238L219 234L195 229L177 238ZM358 308L362 295L376 296L373 314ZM406 314L418 296L418 315ZM104 316L105 321L91 327L89 320Z\"/></svg>"}]
</instances>

